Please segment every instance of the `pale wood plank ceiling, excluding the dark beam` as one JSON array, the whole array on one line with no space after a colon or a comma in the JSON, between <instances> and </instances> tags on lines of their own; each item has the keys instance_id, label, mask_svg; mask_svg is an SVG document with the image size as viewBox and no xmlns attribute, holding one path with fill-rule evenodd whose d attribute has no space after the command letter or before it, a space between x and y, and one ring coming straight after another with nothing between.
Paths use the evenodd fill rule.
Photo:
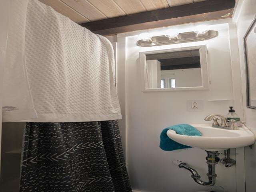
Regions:
<instances>
[{"instance_id":1,"label":"pale wood plank ceiling, excluding the dark beam","mask_svg":"<svg viewBox=\"0 0 256 192\"><path fill-rule=\"evenodd\" d=\"M205 0L40 0L79 24L200 1Z\"/></svg>"}]
</instances>

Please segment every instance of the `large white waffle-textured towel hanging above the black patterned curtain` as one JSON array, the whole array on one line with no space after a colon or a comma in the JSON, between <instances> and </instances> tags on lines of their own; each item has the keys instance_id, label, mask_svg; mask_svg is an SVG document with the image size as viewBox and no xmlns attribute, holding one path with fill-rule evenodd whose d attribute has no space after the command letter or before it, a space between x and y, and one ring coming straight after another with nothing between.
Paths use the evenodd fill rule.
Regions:
<instances>
[{"instance_id":1,"label":"large white waffle-textured towel hanging above the black patterned curtain","mask_svg":"<svg viewBox=\"0 0 256 192\"><path fill-rule=\"evenodd\" d=\"M10 92L15 99L6 105L10 111L4 112L4 121L79 122L121 118L114 84L114 53L106 38L37 0L28 1L25 34L26 62L20 64L23 68L17 68L12 78L5 80L10 85L6 86L9 92L6 99ZM11 84L13 78L22 80L22 90L13 89L17 87ZM15 112L23 109L20 103L34 113L22 112L17 115L20 119L14 119Z\"/></svg>"}]
</instances>

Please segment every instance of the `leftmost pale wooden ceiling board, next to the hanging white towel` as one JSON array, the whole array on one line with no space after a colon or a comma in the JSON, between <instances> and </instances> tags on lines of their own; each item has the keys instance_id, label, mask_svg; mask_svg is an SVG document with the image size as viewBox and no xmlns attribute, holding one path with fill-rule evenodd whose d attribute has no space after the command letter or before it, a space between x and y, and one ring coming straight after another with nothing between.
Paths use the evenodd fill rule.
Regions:
<instances>
[{"instance_id":1,"label":"leftmost pale wooden ceiling board, next to the hanging white towel","mask_svg":"<svg viewBox=\"0 0 256 192\"><path fill-rule=\"evenodd\" d=\"M60 14L70 18L72 21L76 23L84 23L89 22L86 17L82 16L80 13L76 12L74 9L70 8L68 5L64 4L60 0L39 0L40 2L51 6L55 11Z\"/></svg>"}]
</instances>

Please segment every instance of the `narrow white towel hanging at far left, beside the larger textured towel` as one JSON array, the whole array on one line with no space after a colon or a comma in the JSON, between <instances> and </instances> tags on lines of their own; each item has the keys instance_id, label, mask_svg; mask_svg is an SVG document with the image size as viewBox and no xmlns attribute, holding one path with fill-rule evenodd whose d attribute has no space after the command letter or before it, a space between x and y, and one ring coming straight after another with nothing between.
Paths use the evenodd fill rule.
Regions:
<instances>
[{"instance_id":1,"label":"narrow white towel hanging at far left, beside the larger textured towel","mask_svg":"<svg viewBox=\"0 0 256 192\"><path fill-rule=\"evenodd\" d=\"M36 118L25 66L28 0L10 0L3 81L3 122Z\"/></svg>"}]
</instances>

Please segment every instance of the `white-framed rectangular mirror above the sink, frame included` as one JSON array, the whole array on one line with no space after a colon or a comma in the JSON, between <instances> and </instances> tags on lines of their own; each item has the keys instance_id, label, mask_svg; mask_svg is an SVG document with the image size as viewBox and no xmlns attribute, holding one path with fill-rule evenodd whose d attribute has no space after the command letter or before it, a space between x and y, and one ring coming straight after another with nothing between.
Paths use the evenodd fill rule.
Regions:
<instances>
[{"instance_id":1,"label":"white-framed rectangular mirror above the sink, frame included","mask_svg":"<svg viewBox=\"0 0 256 192\"><path fill-rule=\"evenodd\" d=\"M209 89L206 46L140 52L141 89Z\"/></svg>"}]
</instances>

